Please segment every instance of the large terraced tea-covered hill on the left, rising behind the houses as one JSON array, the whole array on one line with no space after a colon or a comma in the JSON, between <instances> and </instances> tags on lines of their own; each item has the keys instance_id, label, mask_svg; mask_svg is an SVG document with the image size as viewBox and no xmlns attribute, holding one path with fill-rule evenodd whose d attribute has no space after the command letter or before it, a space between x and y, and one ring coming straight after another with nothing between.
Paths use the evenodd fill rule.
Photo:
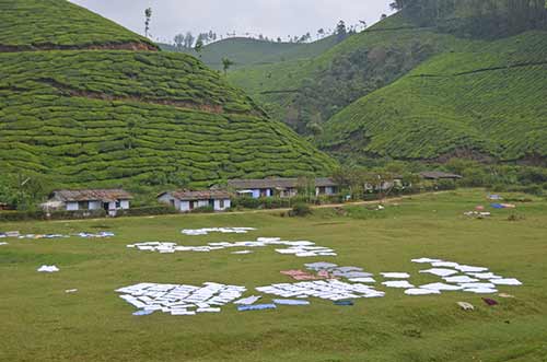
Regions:
<instances>
[{"instance_id":1,"label":"large terraced tea-covered hill on the left, rising behind the houses","mask_svg":"<svg viewBox=\"0 0 547 362\"><path fill-rule=\"evenodd\" d=\"M3 1L2 7L11 16L39 3L47 7L35 8L40 11L31 17L44 24L55 19L40 14L56 13L57 7L74 9L82 21L96 24L97 36L90 30L82 43L78 27L65 34L74 47L139 39L66 1L10 3ZM22 34L32 33L24 24L18 27ZM51 33L42 28L42 38L61 37L58 26ZM2 26L0 38L13 32ZM105 34L119 36L112 42ZM2 173L40 174L68 186L206 186L233 177L324 174L334 165L265 116L243 91L187 55L4 51L0 66Z\"/></svg>"}]
</instances>

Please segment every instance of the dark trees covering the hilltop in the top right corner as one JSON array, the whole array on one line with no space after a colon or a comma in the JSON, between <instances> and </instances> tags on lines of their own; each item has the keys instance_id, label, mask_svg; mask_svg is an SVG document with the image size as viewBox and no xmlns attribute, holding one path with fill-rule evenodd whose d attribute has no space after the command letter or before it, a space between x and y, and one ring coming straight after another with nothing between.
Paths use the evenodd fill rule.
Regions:
<instances>
[{"instance_id":1,"label":"dark trees covering the hilltop in the top right corner","mask_svg":"<svg viewBox=\"0 0 547 362\"><path fill-rule=\"evenodd\" d=\"M395 0L391 5L420 26L463 36L496 37L547 28L545 0Z\"/></svg>"}]
</instances>

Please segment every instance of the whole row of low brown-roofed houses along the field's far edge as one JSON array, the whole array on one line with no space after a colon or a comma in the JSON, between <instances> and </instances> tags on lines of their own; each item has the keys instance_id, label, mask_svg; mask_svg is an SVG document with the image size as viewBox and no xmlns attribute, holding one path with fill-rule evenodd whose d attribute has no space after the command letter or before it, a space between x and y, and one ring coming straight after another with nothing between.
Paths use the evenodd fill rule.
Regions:
<instances>
[{"instance_id":1,"label":"whole row of low brown-roofed houses along the field's far edge","mask_svg":"<svg viewBox=\"0 0 547 362\"><path fill-rule=\"evenodd\" d=\"M424 179L458 179L462 176L446 173L422 173ZM302 187L298 178L264 178L232 179L228 187L214 186L209 190L176 190L165 191L156 196L159 202L170 205L181 212L211 207L214 211L224 211L232 207L233 197L291 198L298 195ZM339 186L328 177L314 180L316 196L331 196L339 191ZM230 190L230 191L229 191ZM109 215L116 215L120 210L128 210L132 196L123 189L88 189L54 191L42 207L46 211L97 211L105 210Z\"/></svg>"}]
</instances>

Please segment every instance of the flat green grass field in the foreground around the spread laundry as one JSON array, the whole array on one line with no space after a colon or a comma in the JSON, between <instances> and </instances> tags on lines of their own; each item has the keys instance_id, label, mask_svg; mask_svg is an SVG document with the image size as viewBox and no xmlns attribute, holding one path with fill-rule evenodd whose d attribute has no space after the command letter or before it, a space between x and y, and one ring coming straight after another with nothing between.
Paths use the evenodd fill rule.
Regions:
<instances>
[{"instance_id":1,"label":"flat green grass field in the foreground around the spread laundry","mask_svg":"<svg viewBox=\"0 0 547 362\"><path fill-rule=\"evenodd\" d=\"M316 210L305 219L279 212L175 215L77 222L0 224L0 231L70 233L109 230L112 240L8 241L0 246L0 360L2 361L547 361L547 202L519 203L516 211L492 211L488 220L463 215L487 203L480 190L416 196L384 211L349 207L342 215ZM510 222L516 212L521 221ZM185 227L254 226L247 235L183 236ZM203 245L213 241L280 236L334 247L338 257L295 258L274 248L251 255L148 254L126 248L144 241ZM411 258L438 257L489 267L524 287L501 287L515 295L450 292L407 296L385 289L383 299L358 300L352 307L312 299L304 307L176 317L137 317L115 289L138 282L206 281L255 287L290 282L279 273L304 262L333 261L365 270L418 275ZM36 272L43 264L61 269ZM381 278L379 278L381 280ZM65 290L77 288L78 293ZM265 295L265 301L269 296ZM458 301L470 302L463 312Z\"/></svg>"}]
</instances>

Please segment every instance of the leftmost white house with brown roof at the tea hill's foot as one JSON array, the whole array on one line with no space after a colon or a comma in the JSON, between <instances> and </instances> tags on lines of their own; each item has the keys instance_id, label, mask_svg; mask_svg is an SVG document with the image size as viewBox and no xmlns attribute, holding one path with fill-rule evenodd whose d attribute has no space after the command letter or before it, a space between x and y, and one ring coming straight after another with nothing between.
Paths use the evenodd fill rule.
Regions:
<instances>
[{"instance_id":1,"label":"leftmost white house with brown roof at the tea hill's foot","mask_svg":"<svg viewBox=\"0 0 547 362\"><path fill-rule=\"evenodd\" d=\"M110 217L118 210L129 209L132 196L123 189L57 190L43 208L49 210L105 210Z\"/></svg>"}]
</instances>

